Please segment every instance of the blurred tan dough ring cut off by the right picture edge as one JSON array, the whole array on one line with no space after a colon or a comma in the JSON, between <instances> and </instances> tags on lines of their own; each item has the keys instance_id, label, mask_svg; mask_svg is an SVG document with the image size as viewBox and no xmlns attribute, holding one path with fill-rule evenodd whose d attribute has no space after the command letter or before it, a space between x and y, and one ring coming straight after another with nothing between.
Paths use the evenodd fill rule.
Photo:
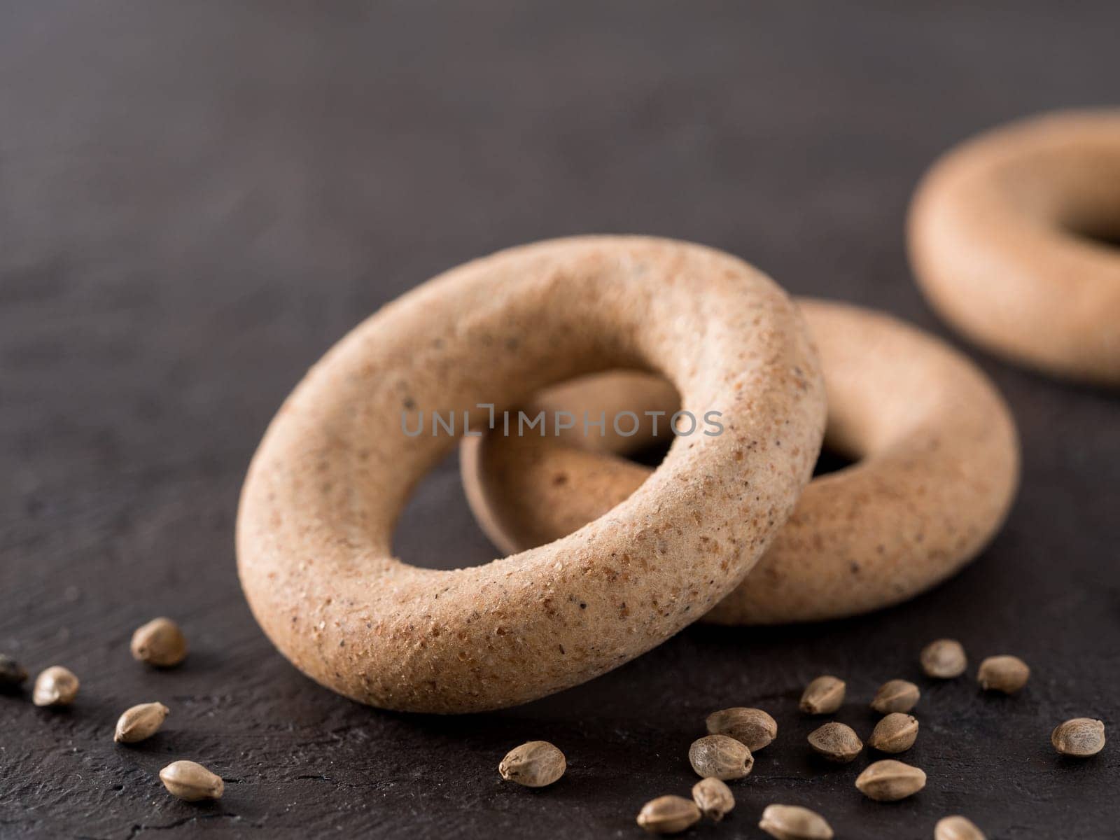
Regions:
<instances>
[{"instance_id":1,"label":"blurred tan dough ring cut off by the right picture edge","mask_svg":"<svg viewBox=\"0 0 1120 840\"><path fill-rule=\"evenodd\" d=\"M945 155L908 236L930 302L977 343L1120 384L1120 110L1056 113ZM1094 239L1096 237L1096 239Z\"/></svg>"}]
</instances>

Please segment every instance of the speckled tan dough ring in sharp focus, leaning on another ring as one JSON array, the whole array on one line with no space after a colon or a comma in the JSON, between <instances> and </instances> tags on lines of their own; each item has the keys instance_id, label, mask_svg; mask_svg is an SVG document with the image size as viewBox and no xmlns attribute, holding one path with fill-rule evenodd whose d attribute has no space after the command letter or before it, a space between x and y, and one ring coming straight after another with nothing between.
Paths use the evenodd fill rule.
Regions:
<instances>
[{"instance_id":1,"label":"speckled tan dough ring in sharp focus, leaning on another ring","mask_svg":"<svg viewBox=\"0 0 1120 840\"><path fill-rule=\"evenodd\" d=\"M478 403L501 411L604 367L661 371L727 430L690 438L609 516L550 545L452 571L393 557L410 491L457 444L431 433L430 411L468 412L477 430ZM421 411L423 433L405 435ZM797 308L740 260L615 236L500 252L386 306L288 398L242 489L242 587L276 646L354 700L424 712L533 700L734 589L809 483L824 420Z\"/></svg>"}]
</instances>

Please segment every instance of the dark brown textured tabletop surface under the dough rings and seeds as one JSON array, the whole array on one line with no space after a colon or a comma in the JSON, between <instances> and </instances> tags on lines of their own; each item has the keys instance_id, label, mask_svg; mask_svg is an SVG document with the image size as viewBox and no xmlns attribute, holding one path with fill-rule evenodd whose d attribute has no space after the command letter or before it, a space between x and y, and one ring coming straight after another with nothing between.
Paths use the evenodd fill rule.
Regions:
<instances>
[{"instance_id":1,"label":"dark brown textured tabletop surface under the dough rings and seeds","mask_svg":"<svg viewBox=\"0 0 1120 840\"><path fill-rule=\"evenodd\" d=\"M371 4L372 6L372 4ZM707 712L781 728L738 806L696 837L760 837L772 801L839 837L928 838L952 812L990 838L1114 837L1120 758L1063 760L1064 718L1120 722L1120 398L973 354L1020 424L1024 486L982 559L867 618L693 627L598 681L503 713L353 704L296 673L237 588L241 479L272 412L348 327L467 258L544 236L644 232L725 248L796 293L877 306L946 335L904 259L914 181L940 150L1019 114L1107 102L1114 3L864 6L8 3L0 10L0 650L82 678L66 711L0 697L0 836L637 837L687 793ZM1055 7L1056 8L1056 7ZM484 364L484 360L479 360ZM483 562L454 464L399 549ZM155 673L132 628L177 617L193 652ZM1017 653L1015 698L920 680L904 758L916 797L877 804L815 760L796 713L849 680L917 679L922 644ZM166 730L111 740L159 699ZM568 775L503 784L547 738ZM215 805L156 773L190 757ZM170 829L170 831L166 831Z\"/></svg>"}]
</instances>

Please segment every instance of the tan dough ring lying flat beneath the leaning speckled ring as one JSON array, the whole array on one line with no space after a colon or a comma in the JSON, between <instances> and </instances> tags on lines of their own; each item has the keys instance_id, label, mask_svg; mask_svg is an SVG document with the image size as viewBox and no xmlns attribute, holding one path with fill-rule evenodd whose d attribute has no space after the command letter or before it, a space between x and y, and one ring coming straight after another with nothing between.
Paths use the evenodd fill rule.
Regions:
<instances>
[{"instance_id":1,"label":"tan dough ring lying flat beneath the leaning speckled ring","mask_svg":"<svg viewBox=\"0 0 1120 840\"><path fill-rule=\"evenodd\" d=\"M888 315L797 302L824 371L825 445L858 463L813 479L765 557L708 622L818 620L911 598L988 543L1018 485L1015 423L964 356ZM542 392L528 411L541 408L579 418L588 410L592 419L600 410L608 418L654 410L669 417L676 395L648 374L609 373ZM495 544L517 551L547 543L644 486L647 467L589 448L634 449L651 441L650 427L632 438L591 431L464 441L467 498Z\"/></svg>"}]
</instances>

